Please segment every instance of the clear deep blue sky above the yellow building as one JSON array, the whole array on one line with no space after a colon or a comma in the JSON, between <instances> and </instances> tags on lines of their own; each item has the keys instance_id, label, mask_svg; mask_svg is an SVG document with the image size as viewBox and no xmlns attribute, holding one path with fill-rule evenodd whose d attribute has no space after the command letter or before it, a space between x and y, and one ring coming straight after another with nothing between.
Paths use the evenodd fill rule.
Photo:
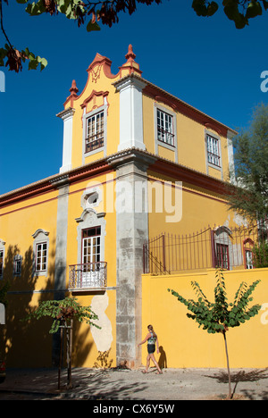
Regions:
<instances>
[{"instance_id":1,"label":"clear deep blue sky above the yellow building","mask_svg":"<svg viewBox=\"0 0 268 418\"><path fill-rule=\"evenodd\" d=\"M268 71L268 13L242 30L222 12L197 17L190 0L138 5L113 28L88 33L63 15L30 17L15 0L4 4L4 28L14 46L46 57L42 72L4 71L0 92L0 195L57 173L62 165L63 110L72 79L80 92L96 53L125 63L133 45L145 79L232 129L247 127L255 105L267 103L260 85ZM1 43L4 37L0 35Z\"/></svg>"}]
</instances>

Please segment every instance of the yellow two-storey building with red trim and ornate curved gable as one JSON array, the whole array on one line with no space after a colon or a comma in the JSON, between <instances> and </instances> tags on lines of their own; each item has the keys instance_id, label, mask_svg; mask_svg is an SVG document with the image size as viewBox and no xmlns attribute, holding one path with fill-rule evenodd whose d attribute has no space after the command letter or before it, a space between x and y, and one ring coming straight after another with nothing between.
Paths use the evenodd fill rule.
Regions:
<instances>
[{"instance_id":1,"label":"yellow two-storey building with red trim and ornate curved gable","mask_svg":"<svg viewBox=\"0 0 268 418\"><path fill-rule=\"evenodd\" d=\"M112 62L96 54L86 86L79 92L72 81L57 114L59 173L0 196L0 276L11 284L2 328L12 366L56 364L49 323L20 320L39 301L68 295L92 305L101 326L76 324L73 365L139 365L142 273L155 272L152 265L169 272L168 255L181 258L163 233L173 239L216 226L212 263L196 266L191 255L172 270L216 262L231 270L250 253L249 237L236 247L239 263L228 253L241 222L224 197L235 132L144 79L132 46L125 58L113 75Z\"/></svg>"}]
</instances>

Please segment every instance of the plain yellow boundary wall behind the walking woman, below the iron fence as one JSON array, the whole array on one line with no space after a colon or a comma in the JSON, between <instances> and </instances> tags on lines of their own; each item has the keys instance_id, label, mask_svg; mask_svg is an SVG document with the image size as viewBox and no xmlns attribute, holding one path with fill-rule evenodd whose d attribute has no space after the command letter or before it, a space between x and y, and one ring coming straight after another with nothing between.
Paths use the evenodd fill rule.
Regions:
<instances>
[{"instance_id":1,"label":"plain yellow boundary wall behind the walking woman, below the iron fence","mask_svg":"<svg viewBox=\"0 0 268 418\"><path fill-rule=\"evenodd\" d=\"M262 311L249 322L227 332L231 368L267 367L268 345L268 269L224 272L227 297L233 302L239 284L248 285L262 280L253 293L251 305L263 305ZM197 281L208 300L214 301L215 271L203 273L142 277L142 331L147 335L147 325L152 324L158 335L166 366L174 368L226 366L222 334L208 334L189 319L188 309L168 292L174 289L186 299L197 300L191 280ZM143 364L146 364L147 347L143 346ZM159 355L156 355L159 359ZM161 360L162 363L162 360Z\"/></svg>"}]
</instances>

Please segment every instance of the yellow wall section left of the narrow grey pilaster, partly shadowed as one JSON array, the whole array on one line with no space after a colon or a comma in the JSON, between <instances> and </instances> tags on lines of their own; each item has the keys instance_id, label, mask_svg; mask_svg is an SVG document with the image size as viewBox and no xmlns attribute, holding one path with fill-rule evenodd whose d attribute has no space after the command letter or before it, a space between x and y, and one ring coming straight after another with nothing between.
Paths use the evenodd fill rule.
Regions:
<instances>
[{"instance_id":1,"label":"yellow wall section left of the narrow grey pilaster, partly shadowed","mask_svg":"<svg viewBox=\"0 0 268 418\"><path fill-rule=\"evenodd\" d=\"M54 288L56 213L57 191L5 206L0 212L0 238L5 242L4 282L8 280L10 283L6 325L0 327L0 352L6 351L5 358L10 367L51 365L52 337L46 332L49 330L47 320L29 324L21 319L38 305L38 301L53 298L51 293L44 291ZM49 232L47 276L32 275L32 234L38 229ZM13 257L16 254L22 256L20 276L13 276Z\"/></svg>"}]
</instances>

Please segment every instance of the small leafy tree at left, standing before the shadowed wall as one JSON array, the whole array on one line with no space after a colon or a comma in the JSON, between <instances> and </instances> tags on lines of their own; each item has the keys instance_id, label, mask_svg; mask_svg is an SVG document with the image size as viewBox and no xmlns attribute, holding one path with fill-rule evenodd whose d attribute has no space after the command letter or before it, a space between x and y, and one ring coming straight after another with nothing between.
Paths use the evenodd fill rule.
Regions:
<instances>
[{"instance_id":1,"label":"small leafy tree at left, standing before the shadowed wall","mask_svg":"<svg viewBox=\"0 0 268 418\"><path fill-rule=\"evenodd\" d=\"M49 333L54 334L61 329L61 347L63 340L63 330L66 330L67 342L67 388L71 389L71 347L72 347L72 322L74 319L79 322L86 322L88 325L100 328L94 321L97 315L91 310L90 306L82 306L75 297L65 297L63 300L48 300L41 302L32 314L29 314L24 321L32 318L37 320L48 316L53 319ZM59 364L58 388L60 389L62 353Z\"/></svg>"}]
</instances>

